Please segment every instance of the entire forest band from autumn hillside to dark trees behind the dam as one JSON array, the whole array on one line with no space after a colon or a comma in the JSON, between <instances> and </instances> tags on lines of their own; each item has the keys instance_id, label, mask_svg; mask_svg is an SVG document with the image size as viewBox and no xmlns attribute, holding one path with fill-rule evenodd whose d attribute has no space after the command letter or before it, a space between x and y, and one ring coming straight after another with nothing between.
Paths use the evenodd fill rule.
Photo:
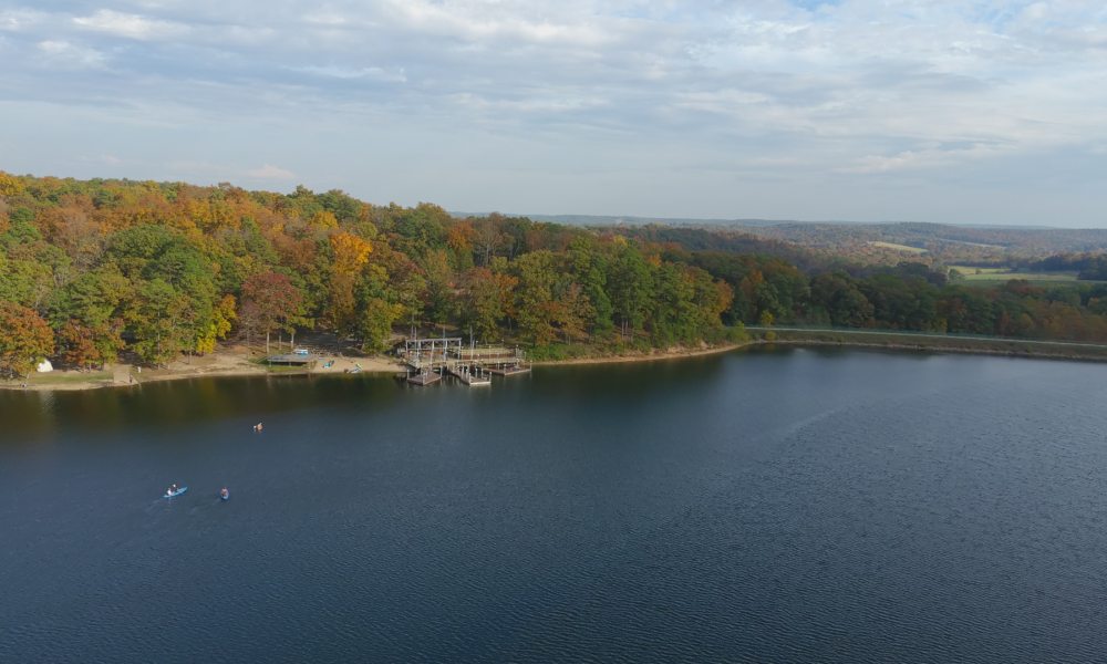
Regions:
<instances>
[{"instance_id":1,"label":"entire forest band from autumn hillside to dark trees behind the dam","mask_svg":"<svg viewBox=\"0 0 1107 664\"><path fill-rule=\"evenodd\" d=\"M0 172L0 363L13 375L122 352L164 365L311 329L372 353L445 325L558 359L737 341L745 323L1104 342L1105 313L1107 284L969 287L937 262L866 264L733 230Z\"/></svg>"}]
</instances>

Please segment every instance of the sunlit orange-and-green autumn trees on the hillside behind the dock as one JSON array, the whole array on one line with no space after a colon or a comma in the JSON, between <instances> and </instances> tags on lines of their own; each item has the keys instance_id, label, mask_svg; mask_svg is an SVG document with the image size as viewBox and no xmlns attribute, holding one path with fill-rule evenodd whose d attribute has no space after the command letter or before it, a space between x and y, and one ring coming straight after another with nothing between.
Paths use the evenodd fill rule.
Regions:
<instances>
[{"instance_id":1,"label":"sunlit orange-and-green autumn trees on the hillside behind the dock","mask_svg":"<svg viewBox=\"0 0 1107 664\"><path fill-rule=\"evenodd\" d=\"M92 367L130 342L158 365L230 334L268 343L317 326L370 351L422 323L539 349L691 344L722 338L733 300L707 271L611 232L339 190L0 174L0 325L39 331L23 351L25 334L6 334L17 373L53 346Z\"/></svg>"}]
</instances>

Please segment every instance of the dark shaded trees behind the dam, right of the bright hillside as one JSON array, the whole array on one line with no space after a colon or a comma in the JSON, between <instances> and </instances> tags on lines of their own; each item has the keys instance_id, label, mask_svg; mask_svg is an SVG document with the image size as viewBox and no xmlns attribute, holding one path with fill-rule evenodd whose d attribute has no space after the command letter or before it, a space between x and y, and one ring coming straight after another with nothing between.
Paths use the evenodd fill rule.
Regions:
<instances>
[{"instance_id":1,"label":"dark shaded trees behind the dam, right of the bright hillside","mask_svg":"<svg viewBox=\"0 0 1107 664\"><path fill-rule=\"evenodd\" d=\"M1107 342L1107 283L999 288L950 281L918 262L805 276L780 259L669 250L668 260L702 267L735 291L724 318L746 323L986 334L1010 339Z\"/></svg>"}]
</instances>

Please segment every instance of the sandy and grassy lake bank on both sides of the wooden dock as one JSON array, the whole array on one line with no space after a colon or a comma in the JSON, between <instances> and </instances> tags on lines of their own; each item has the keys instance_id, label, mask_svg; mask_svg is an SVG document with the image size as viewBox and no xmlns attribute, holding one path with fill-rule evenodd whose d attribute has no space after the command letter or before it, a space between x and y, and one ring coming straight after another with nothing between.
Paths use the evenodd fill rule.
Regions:
<instances>
[{"instance_id":1,"label":"sandy and grassy lake bank on both sides of the wooden dock","mask_svg":"<svg viewBox=\"0 0 1107 664\"><path fill-rule=\"evenodd\" d=\"M534 365L571 366L677 361L717 355L743 349L772 347L774 345L837 346L888 351L1004 355L1039 360L1107 362L1107 346L1096 344L1026 342L1004 339L964 339L940 335L921 336L918 334L897 334L879 330L836 330L828 332L819 330L759 329L749 339L738 342L725 342L714 345L704 344L695 347L651 349L645 352L635 351L624 354L582 354L562 360L536 361ZM133 364L117 364L107 367L105 371L92 372L60 370L46 374L32 374L27 381L0 381L0 390L79 391L102 387L134 387L146 383L209 377L343 375L355 366L359 367L359 374L399 375L404 373L404 369L396 357L385 355L332 355L328 359L333 360L333 364L327 369L322 367L322 362L310 369L267 366L256 359L247 361L241 349L224 346L210 353L205 359L205 362L197 362L195 364L178 361L170 363L165 369L146 369L142 373L138 373L138 367ZM134 378L133 382L132 377ZM23 386L24 383L25 387Z\"/></svg>"}]
</instances>

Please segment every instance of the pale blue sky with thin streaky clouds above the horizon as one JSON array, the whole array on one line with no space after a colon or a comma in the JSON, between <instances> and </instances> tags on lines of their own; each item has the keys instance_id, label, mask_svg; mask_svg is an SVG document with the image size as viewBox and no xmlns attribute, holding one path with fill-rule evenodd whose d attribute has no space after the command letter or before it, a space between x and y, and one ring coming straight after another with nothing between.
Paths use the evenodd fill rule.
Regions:
<instances>
[{"instance_id":1,"label":"pale blue sky with thin streaky clouds above the horizon","mask_svg":"<svg viewBox=\"0 0 1107 664\"><path fill-rule=\"evenodd\" d=\"M0 0L0 169L1107 227L1107 3Z\"/></svg>"}]
</instances>

